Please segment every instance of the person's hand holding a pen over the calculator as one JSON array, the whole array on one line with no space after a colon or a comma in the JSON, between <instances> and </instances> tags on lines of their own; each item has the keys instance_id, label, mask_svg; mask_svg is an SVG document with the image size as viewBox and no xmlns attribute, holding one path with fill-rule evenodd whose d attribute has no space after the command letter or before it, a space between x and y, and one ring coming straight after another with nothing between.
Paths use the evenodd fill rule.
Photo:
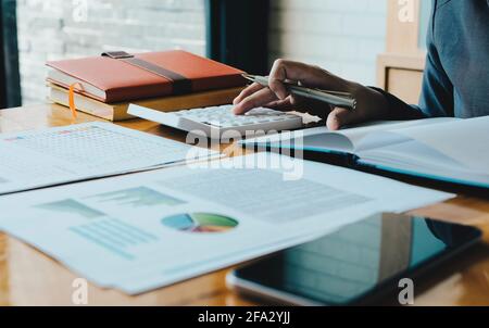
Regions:
<instances>
[{"instance_id":1,"label":"person's hand holding a pen over the calculator","mask_svg":"<svg viewBox=\"0 0 489 328\"><path fill-rule=\"evenodd\" d=\"M356 99L356 109L331 108L324 102L290 94L284 81L300 83L309 88L349 92ZM269 73L268 84L269 87L252 84L246 88L234 100L235 114L244 114L259 106L308 112L325 118L327 127L331 130L387 116L387 101L380 92L342 79L317 66L277 60Z\"/></svg>"}]
</instances>

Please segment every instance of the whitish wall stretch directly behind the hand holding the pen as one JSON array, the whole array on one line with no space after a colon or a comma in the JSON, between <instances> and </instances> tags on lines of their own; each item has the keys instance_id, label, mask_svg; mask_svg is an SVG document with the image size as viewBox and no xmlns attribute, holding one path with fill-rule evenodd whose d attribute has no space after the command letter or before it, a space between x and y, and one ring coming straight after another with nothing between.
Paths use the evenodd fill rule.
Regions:
<instances>
[{"instance_id":1,"label":"whitish wall stretch directly behind the hand holding the pen","mask_svg":"<svg viewBox=\"0 0 489 328\"><path fill-rule=\"evenodd\" d=\"M375 85L388 0L272 0L271 63L286 58Z\"/></svg>"}]
</instances>

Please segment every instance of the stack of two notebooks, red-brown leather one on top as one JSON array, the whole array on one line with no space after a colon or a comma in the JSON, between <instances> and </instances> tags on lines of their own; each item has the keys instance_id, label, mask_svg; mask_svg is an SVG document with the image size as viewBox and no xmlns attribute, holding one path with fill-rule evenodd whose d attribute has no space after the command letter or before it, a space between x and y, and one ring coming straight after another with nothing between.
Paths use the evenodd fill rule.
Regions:
<instances>
[{"instance_id":1,"label":"stack of two notebooks, red-brown leather one on top","mask_svg":"<svg viewBox=\"0 0 489 328\"><path fill-rule=\"evenodd\" d=\"M229 103L241 91L243 72L175 50L49 62L49 98L110 121L131 118L129 103L159 111Z\"/></svg>"}]
</instances>

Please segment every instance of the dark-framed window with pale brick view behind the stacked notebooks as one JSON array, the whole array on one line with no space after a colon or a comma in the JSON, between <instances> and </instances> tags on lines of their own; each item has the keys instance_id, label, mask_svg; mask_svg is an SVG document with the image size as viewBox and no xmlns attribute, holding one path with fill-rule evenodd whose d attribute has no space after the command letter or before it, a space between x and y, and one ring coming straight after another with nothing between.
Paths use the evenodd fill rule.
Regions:
<instances>
[{"instance_id":1,"label":"dark-framed window with pale brick view behind the stacked notebooks","mask_svg":"<svg viewBox=\"0 0 489 328\"><path fill-rule=\"evenodd\" d=\"M267 0L5 0L2 3L5 2L10 3L14 16L16 12L17 38L14 34L9 37L18 40L21 87L17 73L17 86L13 89L17 93L22 90L25 104L46 100L47 61L100 55L105 51L184 49L252 73L267 70L266 60L262 60L266 59ZM259 22L251 24L252 18Z\"/></svg>"}]
</instances>

